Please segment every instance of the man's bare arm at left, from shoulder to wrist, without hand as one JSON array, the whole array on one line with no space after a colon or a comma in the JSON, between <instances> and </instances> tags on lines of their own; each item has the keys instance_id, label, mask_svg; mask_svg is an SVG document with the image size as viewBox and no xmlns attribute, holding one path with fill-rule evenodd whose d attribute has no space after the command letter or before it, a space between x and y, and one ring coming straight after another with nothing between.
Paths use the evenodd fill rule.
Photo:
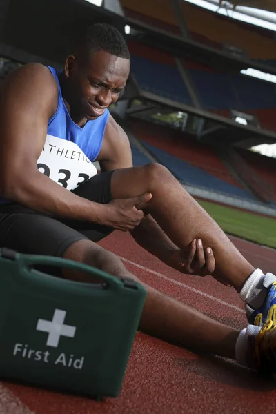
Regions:
<instances>
[{"instance_id":1,"label":"man's bare arm at left, from shoulder to wrist, without hand","mask_svg":"<svg viewBox=\"0 0 276 414\"><path fill-rule=\"evenodd\" d=\"M0 193L42 213L100 221L103 206L61 187L37 169L58 91L50 70L32 63L3 82L0 102Z\"/></svg>"}]
</instances>

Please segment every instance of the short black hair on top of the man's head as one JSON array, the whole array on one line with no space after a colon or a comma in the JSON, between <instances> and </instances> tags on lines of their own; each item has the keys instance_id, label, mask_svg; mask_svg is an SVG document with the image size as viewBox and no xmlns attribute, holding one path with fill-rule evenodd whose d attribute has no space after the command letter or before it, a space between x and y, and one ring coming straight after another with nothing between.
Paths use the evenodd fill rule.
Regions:
<instances>
[{"instance_id":1,"label":"short black hair on top of the man's head","mask_svg":"<svg viewBox=\"0 0 276 414\"><path fill-rule=\"evenodd\" d=\"M75 55L82 57L95 52L107 52L110 55L130 59L130 52L119 30L107 23L95 23L79 34L74 45Z\"/></svg>"}]
</instances>

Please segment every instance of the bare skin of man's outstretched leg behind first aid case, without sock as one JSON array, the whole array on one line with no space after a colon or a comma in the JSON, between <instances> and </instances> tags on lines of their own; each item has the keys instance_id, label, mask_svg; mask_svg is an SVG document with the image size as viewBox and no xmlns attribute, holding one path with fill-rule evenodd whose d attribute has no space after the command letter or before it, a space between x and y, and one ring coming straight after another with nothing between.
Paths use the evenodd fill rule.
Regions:
<instances>
[{"instance_id":1,"label":"bare skin of man's outstretched leg behind first aid case, without sock","mask_svg":"<svg viewBox=\"0 0 276 414\"><path fill-rule=\"evenodd\" d=\"M139 281L114 253L90 240L80 240L68 247L63 257L86 263L117 277L130 277L143 284L147 296L139 324L141 331L186 348L235 359L239 331ZM64 269L63 275L79 282L95 282L91 276L73 270Z\"/></svg>"}]
</instances>

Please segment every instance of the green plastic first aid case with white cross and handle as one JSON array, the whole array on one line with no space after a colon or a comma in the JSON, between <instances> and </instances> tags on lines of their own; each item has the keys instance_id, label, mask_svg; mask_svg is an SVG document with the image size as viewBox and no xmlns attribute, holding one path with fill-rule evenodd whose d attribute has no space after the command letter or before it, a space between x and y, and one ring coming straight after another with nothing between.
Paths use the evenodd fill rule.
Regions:
<instances>
[{"instance_id":1,"label":"green plastic first aid case with white cross and handle","mask_svg":"<svg viewBox=\"0 0 276 414\"><path fill-rule=\"evenodd\" d=\"M86 272L104 284L72 282L37 265ZM131 279L66 259L0 250L0 377L117 397L146 290Z\"/></svg>"}]
</instances>

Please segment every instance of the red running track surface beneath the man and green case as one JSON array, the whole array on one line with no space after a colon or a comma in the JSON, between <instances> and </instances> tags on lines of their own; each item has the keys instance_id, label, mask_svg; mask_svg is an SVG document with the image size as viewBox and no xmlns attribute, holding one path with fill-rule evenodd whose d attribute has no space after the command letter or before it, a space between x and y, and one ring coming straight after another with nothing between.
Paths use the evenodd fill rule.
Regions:
<instances>
[{"instance_id":1,"label":"red running track surface beneath the man and green case","mask_svg":"<svg viewBox=\"0 0 276 414\"><path fill-rule=\"evenodd\" d=\"M254 266L276 272L276 251L233 238ZM148 284L235 328L246 326L233 288L211 277L180 275L116 232L101 245ZM227 266L227 264L225 264ZM219 357L200 357L137 333L121 394L95 402L18 384L0 384L0 414L266 414L276 412L276 384Z\"/></svg>"}]
</instances>

